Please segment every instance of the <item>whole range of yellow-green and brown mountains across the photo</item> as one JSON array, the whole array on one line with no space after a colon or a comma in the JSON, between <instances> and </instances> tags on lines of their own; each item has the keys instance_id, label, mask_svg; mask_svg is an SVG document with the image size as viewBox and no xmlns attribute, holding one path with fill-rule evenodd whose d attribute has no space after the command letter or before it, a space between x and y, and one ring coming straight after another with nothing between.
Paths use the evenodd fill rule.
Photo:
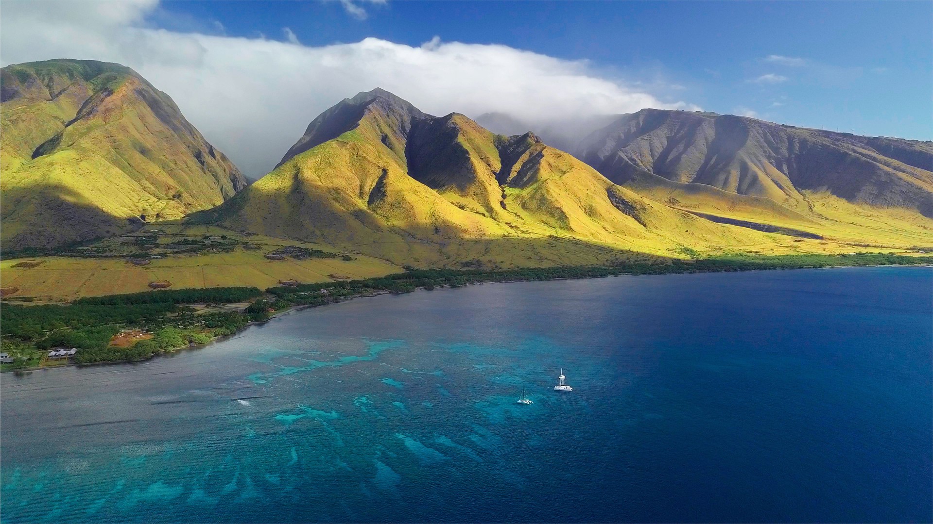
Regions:
<instances>
[{"instance_id":1,"label":"whole range of yellow-green and brown mountains across the photo","mask_svg":"<svg viewBox=\"0 0 933 524\"><path fill-rule=\"evenodd\" d=\"M498 134L376 89L315 117L272 172L245 186L128 68L50 61L2 74L5 248L115 234L141 215L422 266L933 244L929 142L645 109L581 119L579 129L597 129L564 134L554 141L564 151L549 145L552 130L543 140ZM128 194L106 191L115 185Z\"/></svg>"}]
</instances>

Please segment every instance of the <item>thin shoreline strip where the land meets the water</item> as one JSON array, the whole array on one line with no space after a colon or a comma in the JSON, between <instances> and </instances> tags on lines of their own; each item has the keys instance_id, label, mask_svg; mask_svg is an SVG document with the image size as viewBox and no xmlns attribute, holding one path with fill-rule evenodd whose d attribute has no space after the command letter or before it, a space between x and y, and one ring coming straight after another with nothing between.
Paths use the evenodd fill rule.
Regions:
<instances>
[{"instance_id":1,"label":"thin shoreline strip where the land meets the water","mask_svg":"<svg viewBox=\"0 0 933 524\"><path fill-rule=\"evenodd\" d=\"M913 265L891 265L891 264L873 264L873 265L866 265L866 264L851 264L851 265L828 266L828 267L811 267L811 268L754 268L754 269L733 269L732 271L747 272L747 271L773 271L773 270L778 270L778 269L788 269L788 270L794 270L794 269L845 269L845 268L851 269L851 268L885 268L885 267L897 267L897 268L905 268L905 267L906 267L906 268L933 268L933 264L913 264ZM732 272L732 271L729 271L729 272ZM634 273L634 272L620 272L620 273L611 274L611 275L598 275L598 276L582 276L582 275L581 275L581 276L570 276L570 277L554 277L554 278L539 279L539 280L538 280L538 279L521 279L521 278L511 279L511 280L491 280L491 279L486 279L486 280L480 280L480 281L476 281L476 282L462 283L462 284L455 285L455 286L449 286L449 288L453 289L453 288L455 288L455 287L462 287L462 286L466 286L466 285L481 285L481 284L486 284L486 283L550 282L550 281L597 279L597 278L606 278L606 277L610 277L610 276L611 276L611 277L616 277L616 276L651 276L651 275L695 274L695 273L712 273L712 272L726 272L726 271L721 271L721 270L717 271L717 270L715 270L715 269L706 269L706 270L700 269L700 270L692 270L692 271L686 271L686 270L684 270L684 271L670 271L670 272L663 272L663 273L648 273L648 274L646 274L646 273ZM324 285L326 285L326 284L324 284ZM433 289L433 287L432 287L431 289ZM328 306L328 305L336 304L336 303L339 303L339 302L344 302L344 301L348 301L348 300L353 300L354 298L365 298L365 297L381 296L381 295L406 295L406 294L411 293L411 292L414 292L414 291L426 291L426 290L428 290L428 288L427 288L426 286L416 286L416 287L414 287L414 289L412 289L411 291L404 291L404 292L393 292L393 291L388 291L388 290L369 290L369 291L367 291L367 292L365 292L365 293L358 293L358 294L353 294L353 295L348 295L348 296L331 297L330 299L327 300L327 302L325 302L325 303L320 303L320 304L298 304L298 305L293 305L293 306L289 306L289 307L287 307L287 308L285 308L285 309L283 309L283 310L276 310L276 311L272 312L272 313L270 314L270 316L269 316L268 318L264 319L264 320L247 322L242 328L238 329L238 330L236 331L236 333L233 333L233 334L231 334L231 335L220 335L220 336L217 336L217 337L215 337L215 338L211 338L209 341L204 342L204 343L202 343L202 344L191 344L191 343L189 343L188 345L179 346L179 347L173 348L173 349L171 349L171 350L165 350L165 351L162 351L162 352L155 352L155 353L152 353L152 354L148 355L146 358L142 358L142 359L136 359L136 360L115 360L115 361L94 362L94 363L85 363L85 364L77 364L77 363L74 363L74 362L70 362L70 361L69 361L69 362L67 362L67 363L56 364L56 365L46 365L46 366L38 366L38 367L27 367L27 368L21 368L21 369L4 369L4 370L2 370L2 373L27 373L27 372L33 372L33 371L43 371L43 370L56 369L56 368L64 368L64 367L84 367L84 366L91 366L91 365L127 365L127 364L140 364L140 363L144 363L144 362L147 362L147 361L149 361L149 360L152 360L152 359L154 359L154 358L156 358L156 357L174 355L174 354L177 354L178 352L182 352L182 351L184 351L184 350L196 351L196 350L201 350L201 349L203 349L203 348L206 348L206 347L208 347L208 346L213 346L213 345L215 345L215 344L217 344L217 343L219 343L219 342L223 342L223 341L226 340L226 339L237 337L238 335L240 335L241 333L243 333L243 332L244 332L246 329L248 329L249 327L252 327L252 326L255 326L255 325L268 324L270 321L272 321L273 319L275 319L275 318L277 318L277 317L285 316L286 314L289 314L289 313L292 313L292 312L295 312L295 311L308 310L308 309L312 309L312 308L319 308L319 307L322 307L322 306Z\"/></svg>"}]
</instances>

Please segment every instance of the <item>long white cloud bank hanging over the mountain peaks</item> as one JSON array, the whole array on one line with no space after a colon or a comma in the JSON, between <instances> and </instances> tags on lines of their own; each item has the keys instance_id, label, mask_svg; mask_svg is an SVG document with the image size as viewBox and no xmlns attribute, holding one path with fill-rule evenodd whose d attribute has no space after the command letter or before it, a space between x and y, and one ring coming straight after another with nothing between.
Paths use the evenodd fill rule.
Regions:
<instances>
[{"instance_id":1,"label":"long white cloud bank hanging over the mountain peaks","mask_svg":"<svg viewBox=\"0 0 933 524\"><path fill-rule=\"evenodd\" d=\"M131 66L169 93L188 120L241 169L268 172L313 117L381 87L427 113L506 113L540 121L685 108L565 61L500 45L420 47L377 38L323 47L265 37L146 27L154 2L4 2L0 62L80 58Z\"/></svg>"}]
</instances>

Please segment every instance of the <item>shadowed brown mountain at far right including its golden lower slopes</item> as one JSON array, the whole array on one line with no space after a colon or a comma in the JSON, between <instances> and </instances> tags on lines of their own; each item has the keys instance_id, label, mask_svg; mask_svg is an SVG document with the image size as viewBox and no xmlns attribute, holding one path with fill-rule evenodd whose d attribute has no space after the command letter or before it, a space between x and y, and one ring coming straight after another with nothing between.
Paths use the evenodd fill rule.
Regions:
<instances>
[{"instance_id":1,"label":"shadowed brown mountain at far right including its golden lower slopes","mask_svg":"<svg viewBox=\"0 0 933 524\"><path fill-rule=\"evenodd\" d=\"M933 217L930 142L643 109L574 153L616 184L704 212L854 224L842 215L892 212L933 225L923 219Z\"/></svg>"}]
</instances>

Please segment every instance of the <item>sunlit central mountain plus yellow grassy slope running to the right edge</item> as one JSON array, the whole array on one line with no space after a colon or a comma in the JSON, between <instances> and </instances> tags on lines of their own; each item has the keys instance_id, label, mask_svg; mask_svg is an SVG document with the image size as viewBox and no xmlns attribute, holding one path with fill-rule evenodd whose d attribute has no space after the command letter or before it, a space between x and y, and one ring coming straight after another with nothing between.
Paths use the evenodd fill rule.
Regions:
<instances>
[{"instance_id":1,"label":"sunlit central mountain plus yellow grassy slope running to the right edge","mask_svg":"<svg viewBox=\"0 0 933 524\"><path fill-rule=\"evenodd\" d=\"M329 109L278 168L193 219L448 267L933 244L933 221L915 209L638 174L620 186L532 133L426 116L376 90Z\"/></svg>"}]
</instances>

